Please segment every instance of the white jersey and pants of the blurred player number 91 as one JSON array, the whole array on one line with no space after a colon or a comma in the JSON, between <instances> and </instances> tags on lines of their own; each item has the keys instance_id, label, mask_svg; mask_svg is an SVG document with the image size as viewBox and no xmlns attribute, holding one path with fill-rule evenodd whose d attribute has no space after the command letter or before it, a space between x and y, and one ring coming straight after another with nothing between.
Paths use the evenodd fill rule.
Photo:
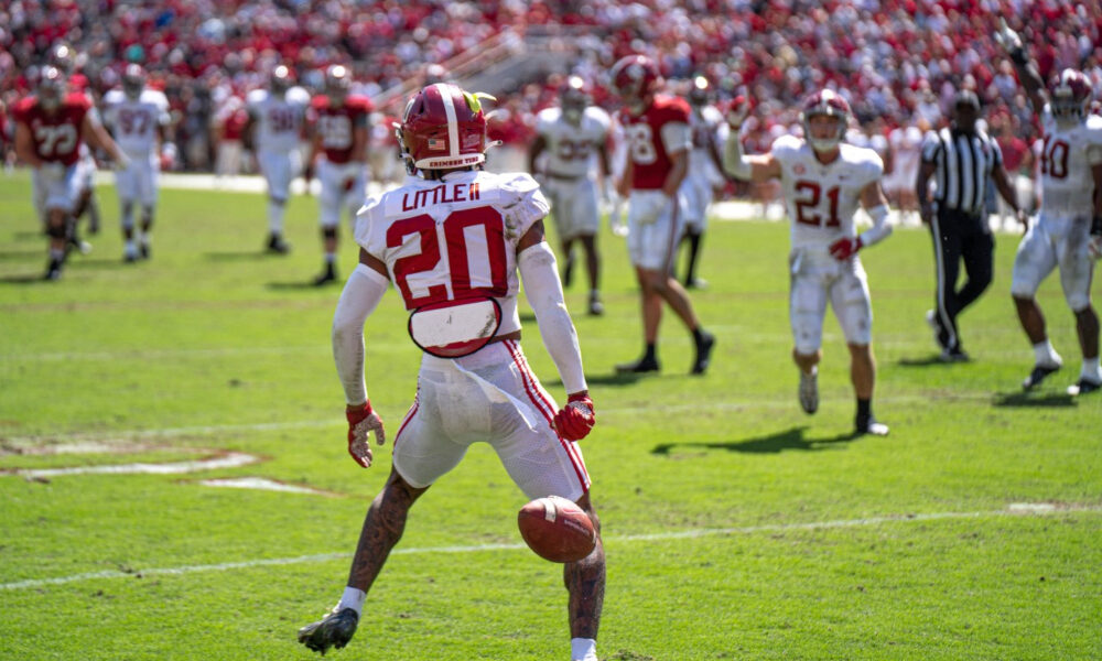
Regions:
<instances>
[{"instance_id":1,"label":"white jersey and pants of the blurred player number 91","mask_svg":"<svg viewBox=\"0 0 1102 661\"><path fill-rule=\"evenodd\" d=\"M299 172L299 143L309 106L310 94L301 87L292 87L282 95L255 89L248 96L257 164L274 199L289 197L291 180Z\"/></svg>"}]
</instances>

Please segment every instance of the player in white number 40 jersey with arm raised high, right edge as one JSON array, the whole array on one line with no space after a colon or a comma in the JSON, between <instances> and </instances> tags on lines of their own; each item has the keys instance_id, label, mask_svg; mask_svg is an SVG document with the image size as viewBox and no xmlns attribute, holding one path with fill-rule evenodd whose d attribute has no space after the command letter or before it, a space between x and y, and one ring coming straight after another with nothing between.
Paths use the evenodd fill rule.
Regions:
<instances>
[{"instance_id":1,"label":"player in white number 40 jersey with arm raised high, right edge","mask_svg":"<svg viewBox=\"0 0 1102 661\"><path fill-rule=\"evenodd\" d=\"M1102 388L1099 317L1091 305L1094 260L1102 256L1102 117L1088 112L1092 90L1087 76L1063 69L1046 93L1022 39L1005 21L996 37L1009 53L1034 110L1040 113L1045 136L1040 214L1018 245L1011 284L1018 319L1036 358L1023 387L1036 388L1063 364L1048 338L1036 299L1041 281L1059 267L1063 296L1076 315L1083 354L1079 380L1068 388L1068 393L1094 392Z\"/></svg>"}]
</instances>

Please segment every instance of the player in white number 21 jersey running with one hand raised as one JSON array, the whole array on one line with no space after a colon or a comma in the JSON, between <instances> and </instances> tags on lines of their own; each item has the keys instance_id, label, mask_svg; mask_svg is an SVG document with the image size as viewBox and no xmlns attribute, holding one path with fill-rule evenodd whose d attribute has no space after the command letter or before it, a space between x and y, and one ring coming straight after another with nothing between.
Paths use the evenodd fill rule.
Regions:
<instances>
[{"instance_id":1,"label":"player in white number 21 jersey running with one hand raised","mask_svg":"<svg viewBox=\"0 0 1102 661\"><path fill-rule=\"evenodd\" d=\"M850 378L857 398L855 432L886 435L887 425L877 422L872 411L876 380L873 307L857 257L858 250L892 234L887 198L880 189L884 164L873 150L842 143L851 112L849 102L835 91L824 89L804 101L800 116L804 139L784 136L766 154L743 153L738 130L747 108L739 97L727 112L732 136L724 149L724 167L744 181L777 177L784 188L792 221L789 314L796 340L792 358L800 370L800 405L807 413L819 408L818 365L830 302L850 347ZM858 204L873 219L873 227L861 235L853 219Z\"/></svg>"}]
</instances>

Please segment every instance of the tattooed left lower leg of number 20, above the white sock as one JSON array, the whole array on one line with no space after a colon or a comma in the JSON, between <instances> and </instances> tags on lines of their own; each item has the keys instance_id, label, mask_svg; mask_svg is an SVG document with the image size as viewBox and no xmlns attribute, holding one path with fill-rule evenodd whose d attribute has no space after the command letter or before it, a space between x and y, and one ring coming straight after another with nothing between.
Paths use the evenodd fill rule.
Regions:
<instances>
[{"instance_id":1,"label":"tattooed left lower leg of number 20, above the white sock","mask_svg":"<svg viewBox=\"0 0 1102 661\"><path fill-rule=\"evenodd\" d=\"M382 571L390 550L402 539L406 530L406 517L413 502L429 490L429 487L417 489L411 487L398 473L391 468L390 477L382 491L375 497L371 507L364 519L364 529L359 533L356 555L348 573L348 585L364 590L371 588L379 572Z\"/></svg>"}]
</instances>

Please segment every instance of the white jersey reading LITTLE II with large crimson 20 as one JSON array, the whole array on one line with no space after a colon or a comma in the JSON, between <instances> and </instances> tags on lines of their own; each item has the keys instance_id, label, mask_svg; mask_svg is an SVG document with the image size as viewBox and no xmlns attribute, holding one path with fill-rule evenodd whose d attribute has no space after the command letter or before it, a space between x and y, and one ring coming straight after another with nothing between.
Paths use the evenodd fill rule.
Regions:
<instances>
[{"instance_id":1,"label":"white jersey reading LITTLE II with large crimson 20","mask_svg":"<svg viewBox=\"0 0 1102 661\"><path fill-rule=\"evenodd\" d=\"M356 242L387 264L407 310L491 297L504 335L520 329L517 243L548 210L528 174L455 172L368 198Z\"/></svg>"}]
</instances>

